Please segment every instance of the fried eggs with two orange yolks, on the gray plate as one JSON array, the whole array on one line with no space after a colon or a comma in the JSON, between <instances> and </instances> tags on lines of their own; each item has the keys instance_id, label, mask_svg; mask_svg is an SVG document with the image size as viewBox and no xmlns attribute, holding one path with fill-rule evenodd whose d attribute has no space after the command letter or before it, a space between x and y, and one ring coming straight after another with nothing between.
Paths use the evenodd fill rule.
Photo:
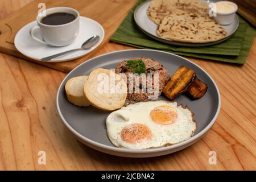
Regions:
<instances>
[{"instance_id":1,"label":"fried eggs with two orange yolks, on the gray plate","mask_svg":"<svg viewBox=\"0 0 256 182\"><path fill-rule=\"evenodd\" d=\"M191 138L196 122L192 111L177 102L148 101L113 111L106 118L106 129L114 146L146 149Z\"/></svg>"}]
</instances>

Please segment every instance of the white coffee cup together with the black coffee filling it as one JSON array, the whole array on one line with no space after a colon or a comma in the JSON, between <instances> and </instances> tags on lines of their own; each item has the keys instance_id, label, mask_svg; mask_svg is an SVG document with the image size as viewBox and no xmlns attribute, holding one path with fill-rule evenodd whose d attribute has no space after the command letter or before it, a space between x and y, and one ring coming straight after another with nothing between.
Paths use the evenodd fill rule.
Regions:
<instances>
[{"instance_id":1,"label":"white coffee cup together with the black coffee filling it","mask_svg":"<svg viewBox=\"0 0 256 182\"><path fill-rule=\"evenodd\" d=\"M69 7L53 7L46 10L46 16L37 16L37 26L30 35L38 42L61 47L71 44L79 32L79 12ZM41 38L35 36L39 30Z\"/></svg>"}]
</instances>

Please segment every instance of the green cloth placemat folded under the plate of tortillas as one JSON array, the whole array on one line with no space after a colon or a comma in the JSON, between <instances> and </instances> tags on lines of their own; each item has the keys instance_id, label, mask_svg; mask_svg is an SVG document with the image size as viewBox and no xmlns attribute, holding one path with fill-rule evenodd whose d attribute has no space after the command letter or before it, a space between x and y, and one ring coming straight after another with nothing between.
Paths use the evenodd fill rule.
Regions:
<instances>
[{"instance_id":1,"label":"green cloth placemat folded under the plate of tortillas","mask_svg":"<svg viewBox=\"0 0 256 182\"><path fill-rule=\"evenodd\" d=\"M146 0L139 0L130 13L121 23L121 26L112 36L113 42L126 44L138 48L159 49L175 53L177 55L200 57L209 60L226 61L229 63L243 64L249 54L250 47L253 44L255 29L251 27L240 16L240 26L232 38L207 47L180 47L164 44L151 39L143 34L137 27L133 19L134 10L138 5Z\"/></svg>"}]
</instances>

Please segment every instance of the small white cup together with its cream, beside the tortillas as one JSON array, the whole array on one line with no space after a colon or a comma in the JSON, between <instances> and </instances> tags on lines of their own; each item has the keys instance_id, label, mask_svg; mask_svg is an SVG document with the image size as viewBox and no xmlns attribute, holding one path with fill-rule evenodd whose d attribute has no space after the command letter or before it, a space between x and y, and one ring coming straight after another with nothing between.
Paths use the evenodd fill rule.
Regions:
<instances>
[{"instance_id":1,"label":"small white cup together with its cream, beside the tortillas","mask_svg":"<svg viewBox=\"0 0 256 182\"><path fill-rule=\"evenodd\" d=\"M229 1L216 2L216 15L214 19L221 25L228 25L233 22L238 7Z\"/></svg>"}]
</instances>

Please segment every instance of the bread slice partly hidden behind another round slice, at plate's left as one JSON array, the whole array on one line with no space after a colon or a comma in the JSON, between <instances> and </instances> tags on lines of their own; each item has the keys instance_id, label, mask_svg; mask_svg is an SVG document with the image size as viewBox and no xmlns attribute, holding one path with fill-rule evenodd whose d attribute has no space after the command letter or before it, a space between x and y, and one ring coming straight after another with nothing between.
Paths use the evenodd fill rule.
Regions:
<instances>
[{"instance_id":1,"label":"bread slice partly hidden behind another round slice, at plate's left","mask_svg":"<svg viewBox=\"0 0 256 182\"><path fill-rule=\"evenodd\" d=\"M77 106L89 106L90 102L84 96L84 83L88 76L73 77L65 84L65 90L69 102Z\"/></svg>"}]
</instances>

